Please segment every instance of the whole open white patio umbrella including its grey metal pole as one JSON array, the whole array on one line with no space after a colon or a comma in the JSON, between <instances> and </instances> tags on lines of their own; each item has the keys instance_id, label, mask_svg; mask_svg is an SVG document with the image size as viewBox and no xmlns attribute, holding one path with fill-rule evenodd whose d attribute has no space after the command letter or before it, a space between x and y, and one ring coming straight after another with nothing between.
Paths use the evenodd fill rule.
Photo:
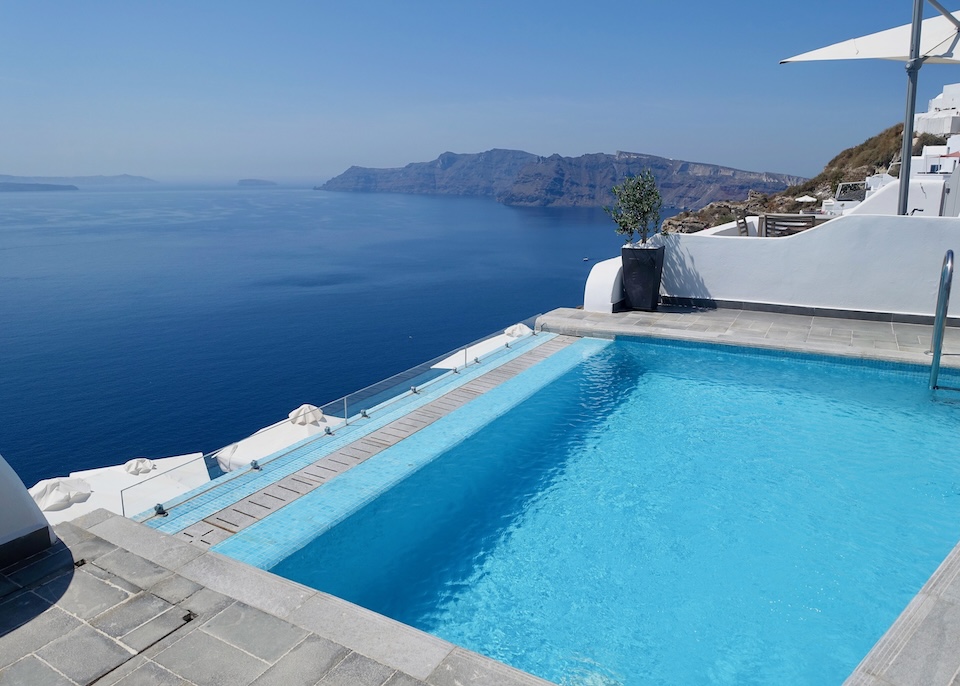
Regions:
<instances>
[{"instance_id":1,"label":"whole open white patio umbrella including its grey metal pole","mask_svg":"<svg viewBox=\"0 0 960 686\"><path fill-rule=\"evenodd\" d=\"M940 16L923 19L923 0L913 0L913 22L910 24L835 43L780 61L780 64L861 59L906 62L907 107L903 119L903 148L900 154L900 178L906 179L906 182L900 184L899 214L907 213L913 111L917 105L917 72L924 62L960 63L960 12L948 12L937 0L927 2L936 8Z\"/></svg>"}]
</instances>

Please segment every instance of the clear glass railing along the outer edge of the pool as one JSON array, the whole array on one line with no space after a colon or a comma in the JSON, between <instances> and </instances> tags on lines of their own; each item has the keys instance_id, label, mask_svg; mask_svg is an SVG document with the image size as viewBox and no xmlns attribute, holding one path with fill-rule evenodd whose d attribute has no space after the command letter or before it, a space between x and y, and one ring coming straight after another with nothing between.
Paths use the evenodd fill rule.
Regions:
<instances>
[{"instance_id":1,"label":"clear glass railing along the outer edge of the pool","mask_svg":"<svg viewBox=\"0 0 960 686\"><path fill-rule=\"evenodd\" d=\"M536 335L536 320L529 317L520 324ZM529 335L529 334L528 334ZM319 412L308 410L307 421L295 423L284 418L256 433L205 453L173 469L155 474L120 492L122 514L139 520L163 515L251 471L282 459L294 450L320 441L330 440L341 429L359 421L382 416L404 399L431 389L473 365L522 341L526 336L513 337L496 332L461 346L406 371L371 384L325 405Z\"/></svg>"}]
</instances>

